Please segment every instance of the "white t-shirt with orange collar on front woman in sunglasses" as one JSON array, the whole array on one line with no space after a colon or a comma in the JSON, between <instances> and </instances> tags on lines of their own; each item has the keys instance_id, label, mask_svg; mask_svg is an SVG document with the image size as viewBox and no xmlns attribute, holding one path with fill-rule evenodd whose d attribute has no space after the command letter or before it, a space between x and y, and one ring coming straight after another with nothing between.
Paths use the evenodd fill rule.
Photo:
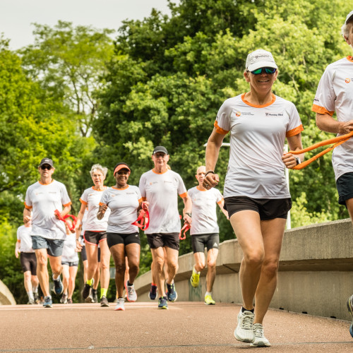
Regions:
<instances>
[{"instance_id":1,"label":"white t-shirt with orange collar on front woman in sunglasses","mask_svg":"<svg viewBox=\"0 0 353 353\"><path fill-rule=\"evenodd\" d=\"M272 102L256 106L243 95L226 100L217 114L218 133L230 131L225 198L289 198L282 162L285 138L303 131L292 102L273 95Z\"/></svg>"}]
</instances>

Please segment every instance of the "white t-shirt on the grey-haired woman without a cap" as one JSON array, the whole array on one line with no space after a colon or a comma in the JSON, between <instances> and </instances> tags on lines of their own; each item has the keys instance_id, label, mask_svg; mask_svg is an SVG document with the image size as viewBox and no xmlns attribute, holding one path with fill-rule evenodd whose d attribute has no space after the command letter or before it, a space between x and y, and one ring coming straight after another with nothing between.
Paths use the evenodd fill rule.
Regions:
<instances>
[{"instance_id":1,"label":"white t-shirt on the grey-haired woman without a cap","mask_svg":"<svg viewBox=\"0 0 353 353\"><path fill-rule=\"evenodd\" d=\"M98 220L97 218L97 213L100 208L100 199L102 198L104 191L107 189L107 186L104 186L104 190L98 191L92 186L83 191L83 194L80 197L80 202L83 203L83 205L88 205L85 230L89 230L90 232L104 232L107 230L110 210L107 210L102 220Z\"/></svg>"}]
</instances>

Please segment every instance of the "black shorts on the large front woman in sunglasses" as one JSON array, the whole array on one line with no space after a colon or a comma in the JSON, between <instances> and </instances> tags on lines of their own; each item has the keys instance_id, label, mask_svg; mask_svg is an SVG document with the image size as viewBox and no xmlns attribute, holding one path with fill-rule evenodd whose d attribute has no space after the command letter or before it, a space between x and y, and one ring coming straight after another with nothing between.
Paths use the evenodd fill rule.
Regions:
<instances>
[{"instance_id":1,"label":"black shorts on the large front woman in sunglasses","mask_svg":"<svg viewBox=\"0 0 353 353\"><path fill-rule=\"evenodd\" d=\"M285 218L292 208L291 198L249 198L247 196L232 196L225 198L225 210L229 218L239 211L253 210L260 215L260 220Z\"/></svg>"}]
</instances>

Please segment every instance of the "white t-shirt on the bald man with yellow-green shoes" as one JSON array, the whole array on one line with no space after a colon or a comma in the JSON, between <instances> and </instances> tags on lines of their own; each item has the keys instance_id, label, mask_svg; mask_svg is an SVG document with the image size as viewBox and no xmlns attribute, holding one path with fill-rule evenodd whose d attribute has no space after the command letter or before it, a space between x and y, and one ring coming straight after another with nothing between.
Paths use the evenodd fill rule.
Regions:
<instances>
[{"instance_id":1,"label":"white t-shirt on the bald man with yellow-green shoes","mask_svg":"<svg viewBox=\"0 0 353 353\"><path fill-rule=\"evenodd\" d=\"M222 203L223 196L217 189L200 190L198 186L188 190L193 202L190 234L218 233L217 203Z\"/></svg>"}]
</instances>

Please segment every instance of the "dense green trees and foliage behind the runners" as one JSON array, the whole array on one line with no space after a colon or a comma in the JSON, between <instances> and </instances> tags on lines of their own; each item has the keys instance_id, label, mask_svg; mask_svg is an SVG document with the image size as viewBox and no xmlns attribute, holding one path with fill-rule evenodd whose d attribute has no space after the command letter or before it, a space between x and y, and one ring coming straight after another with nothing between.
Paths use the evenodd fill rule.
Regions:
<instances>
[{"instance_id":1,"label":"dense green trees and foliage behind the runners","mask_svg":"<svg viewBox=\"0 0 353 353\"><path fill-rule=\"evenodd\" d=\"M24 290L14 234L40 158L53 158L55 177L68 186L76 213L93 163L112 169L124 160L130 184L138 184L152 167L154 145L165 145L172 169L188 189L195 186L217 109L249 89L244 65L255 49L275 56L274 91L296 104L304 145L331 137L316 127L311 104L325 66L352 54L340 35L351 10L347 1L181 0L169 6L170 17L153 10L144 20L126 20L114 42L111 30L64 22L35 25L35 44L18 53L1 41L0 277L13 293L15 285ZM227 157L222 148L221 177ZM348 217L337 204L330 155L289 178L292 227ZM223 215L219 220L221 239L232 239L229 222ZM144 272L150 252L141 238ZM181 243L181 253L190 249L188 240Z\"/></svg>"}]
</instances>

